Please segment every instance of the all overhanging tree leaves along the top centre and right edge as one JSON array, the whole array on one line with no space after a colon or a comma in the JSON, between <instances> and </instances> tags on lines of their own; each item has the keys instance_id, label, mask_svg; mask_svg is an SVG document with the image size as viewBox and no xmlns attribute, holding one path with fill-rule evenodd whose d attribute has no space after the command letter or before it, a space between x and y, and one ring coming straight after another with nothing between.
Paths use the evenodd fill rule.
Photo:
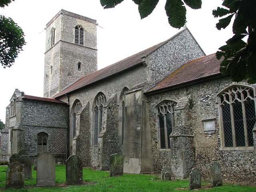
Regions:
<instances>
[{"instance_id":1,"label":"all overhanging tree leaves along the top centre and right edge","mask_svg":"<svg viewBox=\"0 0 256 192\"><path fill-rule=\"evenodd\" d=\"M114 8L123 0L100 0L105 8ZM138 5L141 18L152 13L159 0L133 0ZM190 8L201 8L201 0L166 0L165 10L169 24L181 28L186 22L186 4ZM229 74L233 81L247 80L256 83L256 0L223 0L222 6L212 11L214 17L221 17L216 24L218 30L226 28L232 18L234 36L216 53L218 59L224 58L220 72ZM222 18L224 17L224 18ZM248 37L247 43L242 39Z\"/></svg>"}]
</instances>

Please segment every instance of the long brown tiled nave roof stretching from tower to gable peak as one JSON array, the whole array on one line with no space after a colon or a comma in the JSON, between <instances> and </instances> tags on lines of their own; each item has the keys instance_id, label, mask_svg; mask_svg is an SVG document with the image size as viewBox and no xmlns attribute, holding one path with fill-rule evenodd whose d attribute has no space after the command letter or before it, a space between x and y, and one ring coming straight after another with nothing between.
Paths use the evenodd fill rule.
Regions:
<instances>
[{"instance_id":1,"label":"long brown tiled nave roof stretching from tower to gable peak","mask_svg":"<svg viewBox=\"0 0 256 192\"><path fill-rule=\"evenodd\" d=\"M166 44L167 42L169 42L176 36L178 36L180 33L184 32L185 30L188 30L188 29L185 28L164 42L161 42L161 43L159 43L155 46L152 46L144 51L141 51L141 52L134 54L128 58L118 61L110 66L107 66L103 69L97 70L93 73L90 73L90 74L80 78L79 80L77 80L76 82L74 82L73 84L68 86L67 88L64 88L62 91L60 91L59 93L52 96L52 98L58 98L67 93L78 90L78 89L88 86L90 84L94 84L100 80L104 80L104 79L109 78L113 75L116 75L120 72L128 70L134 66L142 64L144 62L144 59L143 59L144 57L148 56L149 54L151 54L152 52L154 52L155 50L157 50L158 48L160 48L161 46L163 46L164 44Z\"/></svg>"}]
</instances>

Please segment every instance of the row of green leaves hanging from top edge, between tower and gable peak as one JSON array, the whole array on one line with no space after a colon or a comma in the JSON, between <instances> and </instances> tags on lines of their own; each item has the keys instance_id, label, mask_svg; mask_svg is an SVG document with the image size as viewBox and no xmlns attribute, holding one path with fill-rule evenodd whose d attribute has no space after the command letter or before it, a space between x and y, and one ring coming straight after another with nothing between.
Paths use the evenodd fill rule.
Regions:
<instances>
[{"instance_id":1,"label":"row of green leaves hanging from top edge, between tower and gable peak","mask_svg":"<svg viewBox=\"0 0 256 192\"><path fill-rule=\"evenodd\" d=\"M123 0L100 0L101 5L106 8L114 8ZM138 5L140 18L149 16L159 0L133 0ZM168 16L168 22L172 27L181 28L186 22L186 7L184 3L192 9L199 9L202 6L202 0L166 0L165 10Z\"/></svg>"}]
</instances>

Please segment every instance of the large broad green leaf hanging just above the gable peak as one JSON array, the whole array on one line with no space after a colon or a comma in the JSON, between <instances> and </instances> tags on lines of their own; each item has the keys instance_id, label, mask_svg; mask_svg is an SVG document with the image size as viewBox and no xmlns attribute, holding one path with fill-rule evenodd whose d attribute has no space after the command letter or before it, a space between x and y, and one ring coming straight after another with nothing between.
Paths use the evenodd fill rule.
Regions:
<instances>
[{"instance_id":1,"label":"large broad green leaf hanging just above the gable peak","mask_svg":"<svg viewBox=\"0 0 256 192\"><path fill-rule=\"evenodd\" d=\"M181 0L167 0L165 5L169 24L174 28L181 28L186 22L186 8Z\"/></svg>"}]
</instances>

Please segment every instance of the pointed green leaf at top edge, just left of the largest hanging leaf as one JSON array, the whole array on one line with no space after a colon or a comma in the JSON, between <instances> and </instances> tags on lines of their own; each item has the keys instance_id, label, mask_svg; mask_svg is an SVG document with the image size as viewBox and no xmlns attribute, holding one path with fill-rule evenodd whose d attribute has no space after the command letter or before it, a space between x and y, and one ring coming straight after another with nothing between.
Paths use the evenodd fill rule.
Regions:
<instances>
[{"instance_id":1,"label":"pointed green leaf at top edge, just left of the largest hanging leaf","mask_svg":"<svg viewBox=\"0 0 256 192\"><path fill-rule=\"evenodd\" d=\"M142 0L142 2L139 4L140 18L143 19L149 16L154 8L156 8L158 2L159 0Z\"/></svg>"}]
</instances>

